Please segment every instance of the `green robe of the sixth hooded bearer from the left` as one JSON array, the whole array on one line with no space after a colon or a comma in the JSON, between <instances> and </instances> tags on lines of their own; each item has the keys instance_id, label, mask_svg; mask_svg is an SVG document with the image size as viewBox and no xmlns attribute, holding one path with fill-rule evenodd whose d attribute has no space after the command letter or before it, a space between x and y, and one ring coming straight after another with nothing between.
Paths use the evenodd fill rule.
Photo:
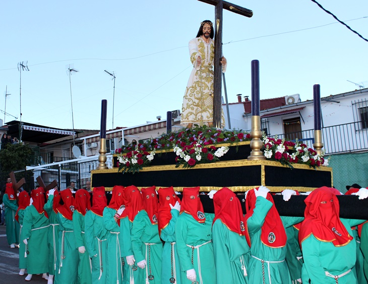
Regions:
<instances>
[{"instance_id":1,"label":"green robe of the sixth hooded bearer from the left","mask_svg":"<svg viewBox=\"0 0 368 284\"><path fill-rule=\"evenodd\" d=\"M78 248L82 246L84 246L86 249L84 253L80 253L78 251L79 254L78 284L90 284L92 282L91 263L85 241L84 216L77 210L75 210L73 213L73 228L74 228L74 237L76 239L76 250L78 251Z\"/></svg>"}]
</instances>

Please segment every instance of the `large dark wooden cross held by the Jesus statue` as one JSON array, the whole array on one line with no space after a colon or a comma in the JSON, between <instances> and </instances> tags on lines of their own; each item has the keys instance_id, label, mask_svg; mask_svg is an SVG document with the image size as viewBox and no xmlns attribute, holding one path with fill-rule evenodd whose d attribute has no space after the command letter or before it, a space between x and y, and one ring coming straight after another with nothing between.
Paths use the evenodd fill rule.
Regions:
<instances>
[{"instance_id":1,"label":"large dark wooden cross held by the Jesus statue","mask_svg":"<svg viewBox=\"0 0 368 284\"><path fill-rule=\"evenodd\" d=\"M239 14L251 18L253 11L231 4L223 0L199 0L201 2L215 6L215 58L214 58L214 80L213 80L213 126L221 128L221 74L222 66L222 10Z\"/></svg>"}]
</instances>

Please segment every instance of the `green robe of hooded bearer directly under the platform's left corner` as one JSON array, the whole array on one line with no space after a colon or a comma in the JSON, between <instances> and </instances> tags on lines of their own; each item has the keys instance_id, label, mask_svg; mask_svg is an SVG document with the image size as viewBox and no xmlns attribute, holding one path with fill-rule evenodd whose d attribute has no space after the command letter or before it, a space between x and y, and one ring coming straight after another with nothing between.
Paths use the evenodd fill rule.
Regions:
<instances>
[{"instance_id":1,"label":"green robe of hooded bearer directly under the platform's left corner","mask_svg":"<svg viewBox=\"0 0 368 284\"><path fill-rule=\"evenodd\" d=\"M106 283L106 237L103 217L91 210L84 216L86 249L92 261L92 284Z\"/></svg>"}]
</instances>

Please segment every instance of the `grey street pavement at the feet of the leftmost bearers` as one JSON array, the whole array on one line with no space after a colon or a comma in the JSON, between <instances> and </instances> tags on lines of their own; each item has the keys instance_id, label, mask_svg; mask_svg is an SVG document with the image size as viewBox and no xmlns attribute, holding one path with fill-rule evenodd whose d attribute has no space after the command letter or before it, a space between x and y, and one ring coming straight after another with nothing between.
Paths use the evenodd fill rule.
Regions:
<instances>
[{"instance_id":1,"label":"grey street pavement at the feet of the leftmost bearers","mask_svg":"<svg viewBox=\"0 0 368 284\"><path fill-rule=\"evenodd\" d=\"M47 245L47 244L45 244ZM8 245L6 226L0 226L0 284L47 284L47 280L41 275L33 275L31 281L26 281L19 273L19 249L11 249ZM26 271L27 272L27 271Z\"/></svg>"}]
</instances>

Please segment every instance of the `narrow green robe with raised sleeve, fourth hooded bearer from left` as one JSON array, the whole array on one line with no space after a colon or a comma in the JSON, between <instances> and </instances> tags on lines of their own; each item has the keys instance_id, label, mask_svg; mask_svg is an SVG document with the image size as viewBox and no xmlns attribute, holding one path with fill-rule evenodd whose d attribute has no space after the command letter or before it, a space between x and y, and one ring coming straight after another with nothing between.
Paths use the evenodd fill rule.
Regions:
<instances>
[{"instance_id":1,"label":"narrow green robe with raised sleeve, fourth hooded bearer from left","mask_svg":"<svg viewBox=\"0 0 368 284\"><path fill-rule=\"evenodd\" d=\"M56 271L56 256L57 250L59 248L58 236L59 236L59 224L57 221L57 214L54 212L52 208L53 195L49 195L47 202L43 206L45 209L48 220L50 221L50 226L48 229L48 273L50 275L55 275Z\"/></svg>"}]
</instances>

